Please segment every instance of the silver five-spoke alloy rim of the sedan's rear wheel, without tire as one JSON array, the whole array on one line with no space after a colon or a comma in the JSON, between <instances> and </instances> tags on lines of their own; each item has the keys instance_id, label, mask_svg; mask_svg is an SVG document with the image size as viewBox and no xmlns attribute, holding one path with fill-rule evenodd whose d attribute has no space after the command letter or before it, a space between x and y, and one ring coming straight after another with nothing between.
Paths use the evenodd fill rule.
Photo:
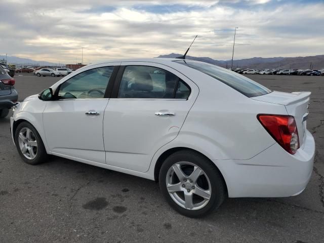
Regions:
<instances>
[{"instance_id":1,"label":"silver five-spoke alloy rim of the sedan's rear wheel, without tire","mask_svg":"<svg viewBox=\"0 0 324 243\"><path fill-rule=\"evenodd\" d=\"M207 174L187 161L175 163L169 169L166 185L175 203L187 210L202 209L211 199L212 187Z\"/></svg>"}]
</instances>

